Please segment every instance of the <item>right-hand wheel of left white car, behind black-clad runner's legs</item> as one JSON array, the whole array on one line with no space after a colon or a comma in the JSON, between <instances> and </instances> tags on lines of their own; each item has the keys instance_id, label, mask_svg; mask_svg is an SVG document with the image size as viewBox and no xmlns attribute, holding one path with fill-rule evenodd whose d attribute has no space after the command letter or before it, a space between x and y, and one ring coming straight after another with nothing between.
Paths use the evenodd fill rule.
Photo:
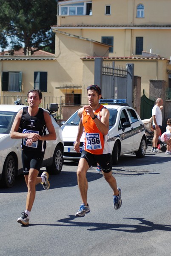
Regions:
<instances>
[{"instance_id":1,"label":"right-hand wheel of left white car, behind black-clad runner's legs","mask_svg":"<svg viewBox=\"0 0 171 256\"><path fill-rule=\"evenodd\" d=\"M53 163L51 166L46 166L49 174L60 174L63 168L63 151L60 146L57 146L53 155Z\"/></svg>"}]
</instances>

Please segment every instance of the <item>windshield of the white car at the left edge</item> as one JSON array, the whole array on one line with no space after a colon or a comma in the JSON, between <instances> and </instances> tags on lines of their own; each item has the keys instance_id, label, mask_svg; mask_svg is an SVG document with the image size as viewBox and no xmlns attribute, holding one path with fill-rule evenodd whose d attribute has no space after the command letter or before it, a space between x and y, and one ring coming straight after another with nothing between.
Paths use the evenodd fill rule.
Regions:
<instances>
[{"instance_id":1,"label":"windshield of the white car at the left edge","mask_svg":"<svg viewBox=\"0 0 171 256\"><path fill-rule=\"evenodd\" d=\"M16 112L0 111L0 134L9 134Z\"/></svg>"}]
</instances>

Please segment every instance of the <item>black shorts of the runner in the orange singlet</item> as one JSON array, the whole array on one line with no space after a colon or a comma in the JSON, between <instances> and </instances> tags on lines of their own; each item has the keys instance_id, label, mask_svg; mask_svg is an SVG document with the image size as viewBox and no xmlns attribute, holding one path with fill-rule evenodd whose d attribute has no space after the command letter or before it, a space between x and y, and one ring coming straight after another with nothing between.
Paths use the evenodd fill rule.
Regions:
<instances>
[{"instance_id":1,"label":"black shorts of the runner in the orange singlet","mask_svg":"<svg viewBox=\"0 0 171 256\"><path fill-rule=\"evenodd\" d=\"M102 168L103 172L111 172L112 170L112 158L111 154L91 154L85 150L81 152L81 157L85 158L89 167L92 166L94 163L98 163Z\"/></svg>"}]
</instances>

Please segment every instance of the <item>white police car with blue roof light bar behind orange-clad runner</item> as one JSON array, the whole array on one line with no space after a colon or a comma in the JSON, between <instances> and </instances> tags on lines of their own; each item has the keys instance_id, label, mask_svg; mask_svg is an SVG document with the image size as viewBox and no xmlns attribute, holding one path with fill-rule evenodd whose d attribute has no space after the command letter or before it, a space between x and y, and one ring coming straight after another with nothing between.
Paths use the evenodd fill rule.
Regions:
<instances>
[{"instance_id":1,"label":"white police car with blue roof light bar behind orange-clad runner","mask_svg":"<svg viewBox=\"0 0 171 256\"><path fill-rule=\"evenodd\" d=\"M125 99L102 99L100 103L108 108L109 131L108 143L111 148L113 164L118 157L135 152L137 157L144 157L146 151L146 135L144 125L134 108L129 107ZM80 155L74 151L73 143L77 137L80 119L76 111L62 126L64 142L64 160L79 160ZM84 134L80 148L83 149Z\"/></svg>"}]
</instances>

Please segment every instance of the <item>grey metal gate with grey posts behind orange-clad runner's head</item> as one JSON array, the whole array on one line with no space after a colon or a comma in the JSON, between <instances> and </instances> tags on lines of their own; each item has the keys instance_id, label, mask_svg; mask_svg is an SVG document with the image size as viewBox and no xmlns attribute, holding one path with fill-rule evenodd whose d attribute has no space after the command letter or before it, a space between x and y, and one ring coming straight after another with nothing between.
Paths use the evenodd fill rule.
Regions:
<instances>
[{"instance_id":1,"label":"grey metal gate with grey posts behind orange-clad runner's head","mask_svg":"<svg viewBox=\"0 0 171 256\"><path fill-rule=\"evenodd\" d=\"M126 99L132 106L134 64L115 67L114 61L107 63L103 58L95 58L94 71L94 84L100 84L104 99Z\"/></svg>"}]
</instances>

